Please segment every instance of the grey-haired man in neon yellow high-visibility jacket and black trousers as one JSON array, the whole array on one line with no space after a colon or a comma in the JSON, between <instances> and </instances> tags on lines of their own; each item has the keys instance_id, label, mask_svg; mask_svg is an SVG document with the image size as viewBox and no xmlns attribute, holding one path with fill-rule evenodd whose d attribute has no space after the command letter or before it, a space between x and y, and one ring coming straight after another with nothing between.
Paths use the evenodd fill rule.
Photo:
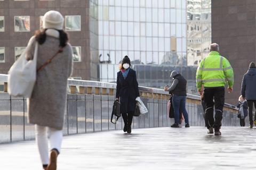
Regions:
<instances>
[{"instance_id":1,"label":"grey-haired man in neon yellow high-visibility jacket and black trousers","mask_svg":"<svg viewBox=\"0 0 256 170\"><path fill-rule=\"evenodd\" d=\"M228 83L228 92L233 91L234 72L225 57L219 53L219 45L210 45L210 54L201 61L196 72L196 86L200 95L203 95L206 104L205 125L208 133L221 135L220 126L225 103L225 84ZM204 88L204 91L203 89ZM214 99L214 101L213 101ZM213 108L215 107L215 121Z\"/></svg>"}]
</instances>

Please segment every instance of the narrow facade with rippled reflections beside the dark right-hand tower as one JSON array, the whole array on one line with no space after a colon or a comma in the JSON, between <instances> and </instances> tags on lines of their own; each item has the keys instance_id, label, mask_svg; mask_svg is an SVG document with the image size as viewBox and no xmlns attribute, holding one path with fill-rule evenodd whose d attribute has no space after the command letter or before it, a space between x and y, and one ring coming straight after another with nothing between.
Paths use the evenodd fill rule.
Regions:
<instances>
[{"instance_id":1,"label":"narrow facade with rippled reflections beside the dark right-hand tower","mask_svg":"<svg viewBox=\"0 0 256 170\"><path fill-rule=\"evenodd\" d=\"M188 65L198 65L211 44L211 0L187 1Z\"/></svg>"}]
</instances>

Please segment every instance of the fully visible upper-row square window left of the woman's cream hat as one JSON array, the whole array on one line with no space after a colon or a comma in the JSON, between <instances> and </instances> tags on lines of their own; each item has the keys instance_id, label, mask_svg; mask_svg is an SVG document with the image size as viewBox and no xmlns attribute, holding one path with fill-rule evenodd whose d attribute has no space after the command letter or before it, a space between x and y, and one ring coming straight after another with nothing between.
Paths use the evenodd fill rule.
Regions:
<instances>
[{"instance_id":1,"label":"fully visible upper-row square window left of the woman's cream hat","mask_svg":"<svg viewBox=\"0 0 256 170\"><path fill-rule=\"evenodd\" d=\"M15 32L29 32L30 31L30 17L29 16L14 16L14 31Z\"/></svg>"}]
</instances>

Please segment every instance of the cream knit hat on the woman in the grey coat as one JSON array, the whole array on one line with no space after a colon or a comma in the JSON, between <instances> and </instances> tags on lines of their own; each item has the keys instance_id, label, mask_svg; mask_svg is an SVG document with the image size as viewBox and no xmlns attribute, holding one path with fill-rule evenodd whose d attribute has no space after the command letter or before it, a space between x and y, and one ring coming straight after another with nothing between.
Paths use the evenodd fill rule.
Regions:
<instances>
[{"instance_id":1,"label":"cream knit hat on the woman in the grey coat","mask_svg":"<svg viewBox=\"0 0 256 170\"><path fill-rule=\"evenodd\" d=\"M43 17L43 28L44 29L63 29L64 18L58 11L48 11Z\"/></svg>"}]
</instances>

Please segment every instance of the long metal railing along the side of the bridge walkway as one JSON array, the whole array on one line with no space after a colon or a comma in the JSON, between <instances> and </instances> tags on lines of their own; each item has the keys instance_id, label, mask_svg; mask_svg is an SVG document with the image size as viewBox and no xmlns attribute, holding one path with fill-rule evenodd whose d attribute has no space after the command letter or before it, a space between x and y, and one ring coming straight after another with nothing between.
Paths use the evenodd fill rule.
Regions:
<instances>
[{"instance_id":1,"label":"long metal railing along the side of the bridge walkway","mask_svg":"<svg viewBox=\"0 0 256 170\"><path fill-rule=\"evenodd\" d=\"M34 125L28 124L26 99L7 93L7 75L0 74L4 91L0 93L0 143L34 139ZM110 122L115 100L116 84L68 80L68 96L64 134L122 130L123 121ZM134 117L133 128L166 127L174 123L167 115L168 92L162 89L139 87L148 114ZM187 95L187 111L191 126L204 126L203 108L199 96ZM235 106L225 104L223 126L237 126Z\"/></svg>"}]
</instances>

